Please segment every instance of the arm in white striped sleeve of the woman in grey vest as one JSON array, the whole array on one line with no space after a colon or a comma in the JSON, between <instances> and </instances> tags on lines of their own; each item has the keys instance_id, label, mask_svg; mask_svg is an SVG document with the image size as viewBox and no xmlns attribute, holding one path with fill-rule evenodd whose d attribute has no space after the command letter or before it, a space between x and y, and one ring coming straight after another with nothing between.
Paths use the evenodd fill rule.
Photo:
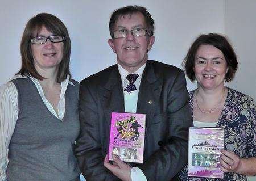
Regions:
<instances>
[{"instance_id":1,"label":"arm in white striped sleeve of the woman in grey vest","mask_svg":"<svg viewBox=\"0 0 256 181\"><path fill-rule=\"evenodd\" d=\"M7 150L18 119L18 92L13 83L0 87L0 180L7 180Z\"/></svg>"}]
</instances>

